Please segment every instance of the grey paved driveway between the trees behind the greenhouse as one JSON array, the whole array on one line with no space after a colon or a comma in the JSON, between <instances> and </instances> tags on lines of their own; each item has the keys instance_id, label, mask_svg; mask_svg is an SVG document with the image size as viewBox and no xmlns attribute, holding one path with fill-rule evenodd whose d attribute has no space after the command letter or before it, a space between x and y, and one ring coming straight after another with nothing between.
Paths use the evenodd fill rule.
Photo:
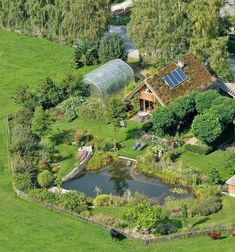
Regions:
<instances>
[{"instance_id":1,"label":"grey paved driveway between the trees behind the greenhouse","mask_svg":"<svg viewBox=\"0 0 235 252\"><path fill-rule=\"evenodd\" d=\"M126 44L126 50L128 52L128 56L131 58L139 59L139 51L134 48L132 41L127 37L127 27L125 25L113 26L109 27L109 32L119 33L121 38Z\"/></svg>"}]
</instances>

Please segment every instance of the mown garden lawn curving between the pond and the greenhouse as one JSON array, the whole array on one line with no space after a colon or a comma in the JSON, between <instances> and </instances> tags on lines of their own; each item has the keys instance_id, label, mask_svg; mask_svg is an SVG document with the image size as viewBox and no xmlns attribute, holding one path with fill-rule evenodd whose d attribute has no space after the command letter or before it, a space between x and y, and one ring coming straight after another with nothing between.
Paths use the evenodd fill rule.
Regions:
<instances>
[{"instance_id":1,"label":"mown garden lawn curving between the pond and the greenhouse","mask_svg":"<svg viewBox=\"0 0 235 252\"><path fill-rule=\"evenodd\" d=\"M128 121L125 128L121 128L117 134L117 141L120 145L118 154L120 156L137 158L143 151L135 151L132 149L135 144L135 139L133 139L133 134L136 130L142 127L142 124ZM102 139L113 139L113 126L110 124L105 124L103 122L98 122L94 120L78 118L73 122L65 122L63 120L53 124L51 139L57 144L57 148L62 155L63 161L61 162L61 169L58 173L59 176L63 177L68 174L74 167L76 163L76 151L77 148L71 145L64 144L61 140L61 136L65 135L66 132L73 132L76 130L88 131L94 137Z\"/></svg>"}]
</instances>

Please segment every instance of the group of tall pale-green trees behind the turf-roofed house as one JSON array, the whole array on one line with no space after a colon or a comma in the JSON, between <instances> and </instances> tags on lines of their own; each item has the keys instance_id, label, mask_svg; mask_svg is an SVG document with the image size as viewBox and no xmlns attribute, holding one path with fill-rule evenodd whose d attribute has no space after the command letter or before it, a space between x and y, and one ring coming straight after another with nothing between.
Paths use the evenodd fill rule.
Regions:
<instances>
[{"instance_id":1,"label":"group of tall pale-green trees behind the turf-roofed house","mask_svg":"<svg viewBox=\"0 0 235 252\"><path fill-rule=\"evenodd\" d=\"M135 0L128 33L148 63L165 65L190 50L232 80L223 5L224 0Z\"/></svg>"}]
</instances>

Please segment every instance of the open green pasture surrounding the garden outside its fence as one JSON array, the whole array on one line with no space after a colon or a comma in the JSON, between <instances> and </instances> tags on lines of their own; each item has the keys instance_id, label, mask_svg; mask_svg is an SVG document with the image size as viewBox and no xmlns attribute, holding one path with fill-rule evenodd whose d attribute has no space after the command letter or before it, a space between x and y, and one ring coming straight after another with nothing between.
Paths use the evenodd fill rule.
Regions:
<instances>
[{"instance_id":1,"label":"open green pasture surrounding the garden outside its fence","mask_svg":"<svg viewBox=\"0 0 235 252\"><path fill-rule=\"evenodd\" d=\"M33 87L47 76L59 80L75 73L70 66L71 53L71 48L0 30L0 251L234 251L232 237L220 241L198 237L149 247L128 239L115 242L107 230L15 196L3 120L5 114L16 109L11 96L19 84Z\"/></svg>"}]
</instances>

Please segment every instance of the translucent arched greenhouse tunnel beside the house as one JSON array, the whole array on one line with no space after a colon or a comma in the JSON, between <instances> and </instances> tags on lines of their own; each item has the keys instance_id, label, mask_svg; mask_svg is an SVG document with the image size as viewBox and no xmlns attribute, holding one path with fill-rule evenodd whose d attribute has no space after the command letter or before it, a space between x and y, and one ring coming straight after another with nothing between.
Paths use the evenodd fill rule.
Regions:
<instances>
[{"instance_id":1,"label":"translucent arched greenhouse tunnel beside the house","mask_svg":"<svg viewBox=\"0 0 235 252\"><path fill-rule=\"evenodd\" d=\"M133 69L120 59L111 60L84 77L84 81L91 85L91 92L101 95L118 92L132 80Z\"/></svg>"}]
</instances>

